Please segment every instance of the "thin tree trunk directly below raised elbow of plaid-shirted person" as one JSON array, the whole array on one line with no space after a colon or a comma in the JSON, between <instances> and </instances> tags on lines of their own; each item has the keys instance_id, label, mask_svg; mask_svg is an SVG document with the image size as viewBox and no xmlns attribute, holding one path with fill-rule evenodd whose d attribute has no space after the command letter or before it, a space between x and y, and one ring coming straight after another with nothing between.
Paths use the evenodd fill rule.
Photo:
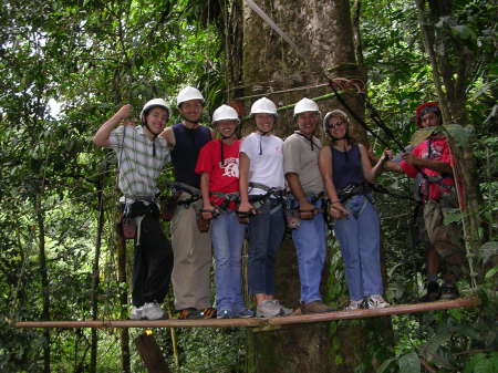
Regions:
<instances>
[{"instance_id":1,"label":"thin tree trunk directly below raised elbow of plaid-shirted person","mask_svg":"<svg viewBox=\"0 0 498 373\"><path fill-rule=\"evenodd\" d=\"M104 160L102 175L106 174L107 163ZM93 262L92 271L92 320L98 319L98 290L100 290L100 269L98 262L101 258L101 245L102 245L102 232L104 230L104 176L98 178L97 183L97 200L98 200L98 218L97 218L97 236L95 240L95 259ZM96 373L96 362L97 362L97 348L98 348L98 335L95 329L92 329L92 342L91 342L91 355L90 355L90 372Z\"/></svg>"}]
</instances>

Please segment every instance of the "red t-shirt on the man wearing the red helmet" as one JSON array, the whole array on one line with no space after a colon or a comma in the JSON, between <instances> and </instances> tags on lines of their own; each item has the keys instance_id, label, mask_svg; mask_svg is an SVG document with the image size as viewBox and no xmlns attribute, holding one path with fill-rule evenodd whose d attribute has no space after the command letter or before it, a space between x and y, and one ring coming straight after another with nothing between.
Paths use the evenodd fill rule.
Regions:
<instances>
[{"instance_id":1,"label":"red t-shirt on the man wearing the red helmet","mask_svg":"<svg viewBox=\"0 0 498 373\"><path fill-rule=\"evenodd\" d=\"M453 156L452 152L449 151L449 145L446 138L428 138L424 141L423 143L418 144L413 151L412 154L416 156L417 158L422 159L432 159L432 160L438 160L438 162L445 162L453 166ZM412 165L409 165L406 160L402 160L400 163L401 168L403 172L409 176L415 177L417 173L421 172L419 168L416 168ZM429 168L422 168L423 173L427 176L440 176L440 174L434 169ZM442 180L443 184L446 185L455 185L455 182L453 177L445 177ZM442 189L444 193L449 193L450 189L443 188L437 183L429 183L428 184L428 193L427 193L427 180L423 179L422 185L422 193L428 197L429 199L439 199Z\"/></svg>"}]
</instances>

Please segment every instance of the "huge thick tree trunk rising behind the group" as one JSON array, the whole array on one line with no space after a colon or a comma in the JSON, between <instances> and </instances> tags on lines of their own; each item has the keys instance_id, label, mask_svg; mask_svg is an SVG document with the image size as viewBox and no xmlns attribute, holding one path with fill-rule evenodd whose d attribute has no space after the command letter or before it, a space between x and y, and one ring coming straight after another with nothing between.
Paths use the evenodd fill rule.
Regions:
<instances>
[{"instance_id":1,"label":"huge thick tree trunk rising behind the group","mask_svg":"<svg viewBox=\"0 0 498 373\"><path fill-rule=\"evenodd\" d=\"M310 99L330 93L328 87L310 87L272 94L303 85L326 83L328 77L360 79L365 73L359 68L353 42L353 29L347 0L273 0L259 1L259 7L298 44L302 61L282 38L272 31L247 6L243 7L243 55L242 86L246 107L267 95L278 106L293 104L301 97ZM328 76L325 76L325 74ZM347 105L363 117L363 101L357 94L344 94ZM335 101L320 102L322 112L338 107ZM245 133L253 129L246 125ZM294 129L292 111L280 113L276 134L287 136ZM361 126L353 123L352 136L365 141ZM325 272L329 272L325 268ZM334 279L324 276L325 283L336 286ZM324 292L326 293L326 291ZM277 263L277 297L287 305L299 307L300 284L295 249L290 239L282 245ZM374 363L367 350L387 349L378 346L378 335L369 333L372 327L388 331L385 321L341 321L315 325L282 328L253 333L249 338L249 372L353 372L360 364L372 371ZM388 319L387 319L387 327ZM381 333L382 334L382 333ZM372 339L371 339L372 336Z\"/></svg>"}]
</instances>

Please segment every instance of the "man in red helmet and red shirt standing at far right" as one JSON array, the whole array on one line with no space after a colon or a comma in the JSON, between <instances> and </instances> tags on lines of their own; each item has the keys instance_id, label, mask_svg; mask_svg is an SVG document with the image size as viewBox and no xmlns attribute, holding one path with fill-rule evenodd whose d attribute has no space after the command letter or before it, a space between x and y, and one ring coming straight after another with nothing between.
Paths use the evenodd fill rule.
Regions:
<instances>
[{"instance_id":1,"label":"man in red helmet and red shirt standing at far right","mask_svg":"<svg viewBox=\"0 0 498 373\"><path fill-rule=\"evenodd\" d=\"M454 299L458 297L455 282L461 273L465 251L461 229L456 222L444 224L448 210L458 208L453 172L453 156L446 135L436 128L443 123L439 106L426 102L416 108L418 128L426 138L404 153L400 163L386 162L384 168L404 173L417 178L421 200L424 206L427 248L427 294L426 301ZM434 127L434 128L433 128ZM439 288L437 272L439 260L443 267L443 286Z\"/></svg>"}]
</instances>

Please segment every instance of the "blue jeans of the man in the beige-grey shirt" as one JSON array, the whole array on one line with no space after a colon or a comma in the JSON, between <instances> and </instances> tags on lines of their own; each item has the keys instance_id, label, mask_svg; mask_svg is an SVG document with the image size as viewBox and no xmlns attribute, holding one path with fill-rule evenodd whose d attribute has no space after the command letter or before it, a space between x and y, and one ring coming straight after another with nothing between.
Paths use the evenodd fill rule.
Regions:
<instances>
[{"instance_id":1,"label":"blue jeans of the man in the beige-grey shirt","mask_svg":"<svg viewBox=\"0 0 498 373\"><path fill-rule=\"evenodd\" d=\"M321 201L314 204L321 207ZM326 230L323 214L311 220L301 220L298 229L292 230L298 253L299 279L301 282L301 302L321 301L320 282L326 255Z\"/></svg>"}]
</instances>

